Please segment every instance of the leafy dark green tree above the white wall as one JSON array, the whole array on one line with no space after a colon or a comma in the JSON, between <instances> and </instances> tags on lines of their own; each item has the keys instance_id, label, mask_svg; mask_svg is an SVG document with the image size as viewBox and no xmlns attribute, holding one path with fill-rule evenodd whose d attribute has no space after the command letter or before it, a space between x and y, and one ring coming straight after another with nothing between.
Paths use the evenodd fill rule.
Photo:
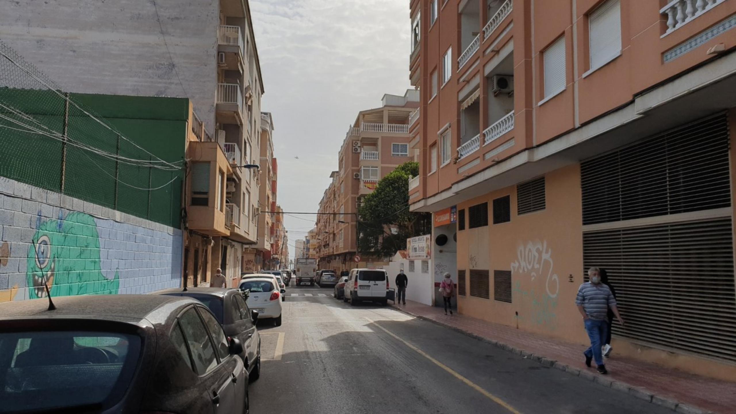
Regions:
<instances>
[{"instance_id":1,"label":"leafy dark green tree above the white wall","mask_svg":"<svg viewBox=\"0 0 736 414\"><path fill-rule=\"evenodd\" d=\"M358 209L358 249L392 255L406 249L406 239L431 232L430 213L409 211L408 180L419 175L419 163L408 161L384 176Z\"/></svg>"}]
</instances>

